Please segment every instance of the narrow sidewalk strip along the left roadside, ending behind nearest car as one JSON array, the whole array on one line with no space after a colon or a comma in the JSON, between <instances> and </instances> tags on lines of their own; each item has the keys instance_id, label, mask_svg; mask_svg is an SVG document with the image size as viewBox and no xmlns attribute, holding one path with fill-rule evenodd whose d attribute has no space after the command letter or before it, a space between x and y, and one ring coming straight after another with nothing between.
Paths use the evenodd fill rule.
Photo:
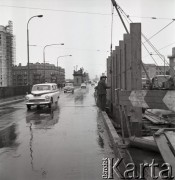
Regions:
<instances>
[{"instance_id":1,"label":"narrow sidewalk strip along the left roadside, ending behind nearest car","mask_svg":"<svg viewBox=\"0 0 175 180\"><path fill-rule=\"evenodd\" d=\"M25 97L25 95L2 98L2 99L0 99L0 106L23 101L24 97Z\"/></svg>"}]
</instances>

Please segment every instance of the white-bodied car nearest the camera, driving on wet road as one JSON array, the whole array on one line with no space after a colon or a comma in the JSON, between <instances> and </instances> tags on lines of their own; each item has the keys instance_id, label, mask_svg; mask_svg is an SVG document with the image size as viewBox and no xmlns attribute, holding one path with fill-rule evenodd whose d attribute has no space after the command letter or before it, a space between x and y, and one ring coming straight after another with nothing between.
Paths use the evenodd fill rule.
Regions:
<instances>
[{"instance_id":1,"label":"white-bodied car nearest the camera, driving on wet road","mask_svg":"<svg viewBox=\"0 0 175 180\"><path fill-rule=\"evenodd\" d=\"M56 103L59 98L59 90L55 83L35 84L32 87L31 94L26 95L26 106L30 110L31 106L47 105L51 108L52 104Z\"/></svg>"}]
</instances>

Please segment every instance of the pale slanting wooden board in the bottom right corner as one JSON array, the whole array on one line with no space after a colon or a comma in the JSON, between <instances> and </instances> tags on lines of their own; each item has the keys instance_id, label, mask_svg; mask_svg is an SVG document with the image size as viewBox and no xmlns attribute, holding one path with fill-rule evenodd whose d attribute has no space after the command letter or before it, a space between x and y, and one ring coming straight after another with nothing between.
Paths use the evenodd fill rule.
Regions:
<instances>
[{"instance_id":1,"label":"pale slanting wooden board in the bottom right corner","mask_svg":"<svg viewBox=\"0 0 175 180\"><path fill-rule=\"evenodd\" d=\"M168 141L165 137L165 134L160 134L158 136L154 136L154 139L157 143L159 151L166 163L169 163L172 167L172 174L175 176L175 156L172 153L170 147L168 146Z\"/></svg>"}]
</instances>

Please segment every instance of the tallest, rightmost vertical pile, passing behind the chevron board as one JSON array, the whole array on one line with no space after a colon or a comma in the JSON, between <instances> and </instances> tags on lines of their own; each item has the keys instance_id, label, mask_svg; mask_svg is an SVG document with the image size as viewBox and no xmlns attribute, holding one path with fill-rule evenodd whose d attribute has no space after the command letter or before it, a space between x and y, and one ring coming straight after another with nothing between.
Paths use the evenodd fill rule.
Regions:
<instances>
[{"instance_id":1,"label":"tallest, rightmost vertical pile, passing behind the chevron board","mask_svg":"<svg viewBox=\"0 0 175 180\"><path fill-rule=\"evenodd\" d=\"M141 23L130 24L131 36L131 89L140 90L141 83ZM141 136L142 108L133 107L131 124L136 136Z\"/></svg>"}]
</instances>

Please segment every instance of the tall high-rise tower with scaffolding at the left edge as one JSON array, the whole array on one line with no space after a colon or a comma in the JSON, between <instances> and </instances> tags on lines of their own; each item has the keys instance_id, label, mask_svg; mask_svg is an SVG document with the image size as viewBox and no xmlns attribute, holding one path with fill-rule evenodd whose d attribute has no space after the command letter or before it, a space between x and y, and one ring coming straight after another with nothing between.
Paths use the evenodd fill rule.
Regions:
<instances>
[{"instance_id":1,"label":"tall high-rise tower with scaffolding at the left edge","mask_svg":"<svg viewBox=\"0 0 175 180\"><path fill-rule=\"evenodd\" d=\"M0 26L0 87L12 86L12 65L14 56L13 23Z\"/></svg>"}]
</instances>

